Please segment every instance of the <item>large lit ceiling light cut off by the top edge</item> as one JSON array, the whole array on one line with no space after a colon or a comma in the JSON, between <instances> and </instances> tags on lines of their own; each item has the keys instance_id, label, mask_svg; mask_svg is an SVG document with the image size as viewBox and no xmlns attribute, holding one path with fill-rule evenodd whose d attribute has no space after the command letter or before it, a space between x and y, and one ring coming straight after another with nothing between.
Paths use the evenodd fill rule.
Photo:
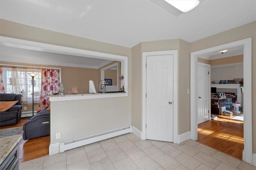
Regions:
<instances>
[{"instance_id":1,"label":"large lit ceiling light cut off by the top edge","mask_svg":"<svg viewBox=\"0 0 256 170\"><path fill-rule=\"evenodd\" d=\"M182 12L189 12L199 4L199 0L165 0Z\"/></svg>"}]
</instances>

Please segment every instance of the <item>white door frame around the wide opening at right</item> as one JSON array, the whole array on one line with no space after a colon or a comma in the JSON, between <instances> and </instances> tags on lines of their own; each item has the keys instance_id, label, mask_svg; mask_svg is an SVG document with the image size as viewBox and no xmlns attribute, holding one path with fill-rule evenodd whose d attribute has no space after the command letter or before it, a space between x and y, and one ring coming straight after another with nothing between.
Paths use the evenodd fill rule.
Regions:
<instances>
[{"instance_id":1,"label":"white door frame around the wide opening at right","mask_svg":"<svg viewBox=\"0 0 256 170\"><path fill-rule=\"evenodd\" d=\"M252 164L252 38L218 45L190 54L190 131L191 139L197 140L197 78L198 57L223 49L244 47L244 151L243 160Z\"/></svg>"}]
</instances>

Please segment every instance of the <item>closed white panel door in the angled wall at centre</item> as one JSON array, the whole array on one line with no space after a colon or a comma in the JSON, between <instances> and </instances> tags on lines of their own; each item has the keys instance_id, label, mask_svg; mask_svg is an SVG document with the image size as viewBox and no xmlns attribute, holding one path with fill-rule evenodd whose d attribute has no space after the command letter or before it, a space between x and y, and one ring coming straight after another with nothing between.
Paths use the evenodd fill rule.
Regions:
<instances>
[{"instance_id":1,"label":"closed white panel door in the angled wall at centre","mask_svg":"<svg viewBox=\"0 0 256 170\"><path fill-rule=\"evenodd\" d=\"M146 57L146 139L173 141L173 59Z\"/></svg>"}]
</instances>

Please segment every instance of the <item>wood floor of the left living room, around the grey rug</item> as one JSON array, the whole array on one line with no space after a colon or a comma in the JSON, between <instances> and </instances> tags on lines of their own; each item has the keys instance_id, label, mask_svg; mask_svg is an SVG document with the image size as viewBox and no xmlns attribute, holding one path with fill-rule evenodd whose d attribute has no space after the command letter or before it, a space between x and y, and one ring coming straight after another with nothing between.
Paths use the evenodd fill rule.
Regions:
<instances>
[{"instance_id":1,"label":"wood floor of the left living room, around the grey rug","mask_svg":"<svg viewBox=\"0 0 256 170\"><path fill-rule=\"evenodd\" d=\"M22 117L16 125L0 127L6 129L23 126L29 117ZM21 130L18 134L23 134ZM19 163L49 155L50 135L19 142Z\"/></svg>"}]
</instances>

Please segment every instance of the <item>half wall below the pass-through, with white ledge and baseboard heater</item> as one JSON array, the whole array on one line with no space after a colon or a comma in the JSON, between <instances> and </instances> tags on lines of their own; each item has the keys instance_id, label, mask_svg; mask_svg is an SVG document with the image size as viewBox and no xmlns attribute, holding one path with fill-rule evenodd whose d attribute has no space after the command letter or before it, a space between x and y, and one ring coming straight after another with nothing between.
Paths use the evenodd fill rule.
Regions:
<instances>
[{"instance_id":1,"label":"half wall below the pass-through, with white ledge and baseboard heater","mask_svg":"<svg viewBox=\"0 0 256 170\"><path fill-rule=\"evenodd\" d=\"M56 95L50 102L50 154L132 132L126 92Z\"/></svg>"}]
</instances>

